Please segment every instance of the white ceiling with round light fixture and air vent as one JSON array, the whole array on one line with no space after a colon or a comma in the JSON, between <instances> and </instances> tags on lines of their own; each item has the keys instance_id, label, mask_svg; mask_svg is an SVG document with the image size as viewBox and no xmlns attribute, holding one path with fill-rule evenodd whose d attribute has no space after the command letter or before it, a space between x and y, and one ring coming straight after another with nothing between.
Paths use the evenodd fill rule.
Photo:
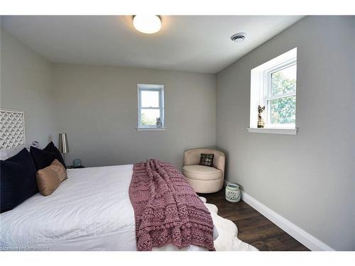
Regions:
<instances>
[{"instance_id":1,"label":"white ceiling with round light fixture and air vent","mask_svg":"<svg viewBox=\"0 0 355 266\"><path fill-rule=\"evenodd\" d=\"M131 16L2 16L1 27L51 62L216 73L302 16L161 16L147 35ZM247 33L233 43L234 33Z\"/></svg>"}]
</instances>

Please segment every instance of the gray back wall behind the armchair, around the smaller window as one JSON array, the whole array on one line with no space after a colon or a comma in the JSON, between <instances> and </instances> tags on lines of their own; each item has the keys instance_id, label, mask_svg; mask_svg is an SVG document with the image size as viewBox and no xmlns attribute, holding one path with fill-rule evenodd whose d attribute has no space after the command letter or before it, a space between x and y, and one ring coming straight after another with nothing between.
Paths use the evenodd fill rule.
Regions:
<instances>
[{"instance_id":1,"label":"gray back wall behind the armchair, around the smaller window","mask_svg":"<svg viewBox=\"0 0 355 266\"><path fill-rule=\"evenodd\" d=\"M164 85L166 131L136 131L138 83ZM53 84L68 161L101 166L158 158L181 167L184 150L215 145L214 74L53 65Z\"/></svg>"}]
</instances>

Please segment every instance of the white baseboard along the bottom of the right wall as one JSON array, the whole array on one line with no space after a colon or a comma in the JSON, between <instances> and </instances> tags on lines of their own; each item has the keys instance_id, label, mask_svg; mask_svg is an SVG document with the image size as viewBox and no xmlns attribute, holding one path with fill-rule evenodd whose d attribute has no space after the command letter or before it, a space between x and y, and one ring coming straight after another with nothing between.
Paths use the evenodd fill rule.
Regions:
<instances>
[{"instance_id":1,"label":"white baseboard along the bottom of the right wall","mask_svg":"<svg viewBox=\"0 0 355 266\"><path fill-rule=\"evenodd\" d=\"M318 238L315 238L310 233L307 233L302 228L296 226L295 223L292 223L291 221L284 218L283 216L280 216L280 214L275 213L275 211L268 208L267 206L262 204L260 201L257 201L249 194L246 194L245 192L241 192L241 199L243 199L243 201L246 202L246 204L249 204L250 206L252 206L253 209L256 209L256 211L263 214L263 216L265 216L270 221L275 223L276 226L283 229L283 231L285 231L286 233L291 235L293 238L295 238L297 241L299 241L300 243L305 245L310 250L312 250L312 251L322 251L322 250L334 251L334 249L330 248L329 245L323 243Z\"/></svg>"}]
</instances>

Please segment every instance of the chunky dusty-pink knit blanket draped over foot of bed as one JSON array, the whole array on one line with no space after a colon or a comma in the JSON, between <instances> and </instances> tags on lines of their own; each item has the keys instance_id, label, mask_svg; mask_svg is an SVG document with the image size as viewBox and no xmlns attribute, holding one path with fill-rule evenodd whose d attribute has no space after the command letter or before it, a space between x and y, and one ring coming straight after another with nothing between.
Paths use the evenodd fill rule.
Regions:
<instances>
[{"instance_id":1,"label":"chunky dusty-pink knit blanket draped over foot of bed","mask_svg":"<svg viewBox=\"0 0 355 266\"><path fill-rule=\"evenodd\" d=\"M136 220L137 250L170 243L214 250L211 214L173 165L148 160L133 166L129 197Z\"/></svg>"}]
</instances>

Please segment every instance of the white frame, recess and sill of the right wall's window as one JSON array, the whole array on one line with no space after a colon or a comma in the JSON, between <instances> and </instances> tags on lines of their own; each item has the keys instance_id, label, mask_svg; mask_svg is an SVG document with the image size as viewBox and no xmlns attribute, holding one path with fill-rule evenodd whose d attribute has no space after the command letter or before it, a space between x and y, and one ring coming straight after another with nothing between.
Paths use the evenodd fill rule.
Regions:
<instances>
[{"instance_id":1,"label":"white frame, recess and sill of the right wall's window","mask_svg":"<svg viewBox=\"0 0 355 266\"><path fill-rule=\"evenodd\" d=\"M297 48L285 52L283 55L275 57L273 60L260 65L251 70L251 103L250 103L250 127L249 132L253 133L278 133L296 135L297 128L295 124L272 124L271 118L271 100L280 99L287 96L296 96L295 92L271 96L271 74L283 70L287 67L297 65ZM258 105L265 106L263 118L264 128L258 128Z\"/></svg>"}]
</instances>

